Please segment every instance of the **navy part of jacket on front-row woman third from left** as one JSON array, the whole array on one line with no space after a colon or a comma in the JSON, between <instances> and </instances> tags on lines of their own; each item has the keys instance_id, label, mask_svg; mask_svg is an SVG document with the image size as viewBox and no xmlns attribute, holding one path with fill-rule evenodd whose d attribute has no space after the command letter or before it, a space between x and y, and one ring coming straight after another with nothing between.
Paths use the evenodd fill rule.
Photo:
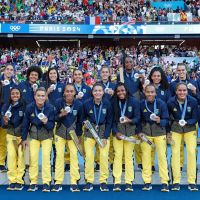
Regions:
<instances>
[{"instance_id":1,"label":"navy part of jacket on front-row woman third from left","mask_svg":"<svg viewBox=\"0 0 200 200\"><path fill-rule=\"evenodd\" d=\"M66 102L64 98L57 99L56 107L56 121L61 122L65 125L66 128L69 128L74 122L76 122L76 134L78 136L82 135L82 123L83 123L83 105L79 100L74 100L73 104L70 106L73 107L73 111L68 113L66 116L60 118L59 114L62 109L65 108Z\"/></svg>"}]
</instances>

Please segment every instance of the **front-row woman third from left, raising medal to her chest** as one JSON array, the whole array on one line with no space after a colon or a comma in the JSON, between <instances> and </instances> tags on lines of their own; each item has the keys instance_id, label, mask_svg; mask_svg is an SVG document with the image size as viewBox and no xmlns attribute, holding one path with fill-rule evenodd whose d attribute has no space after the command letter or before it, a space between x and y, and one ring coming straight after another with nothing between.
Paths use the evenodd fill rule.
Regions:
<instances>
[{"instance_id":1,"label":"front-row woman third from left, raising medal to her chest","mask_svg":"<svg viewBox=\"0 0 200 200\"><path fill-rule=\"evenodd\" d=\"M82 135L83 105L75 99L76 90L74 85L68 83L65 86L64 97L56 101L56 165L55 165L55 185L52 191L62 190L64 179L64 152L68 145L70 153L70 179L72 192L79 192L78 180L80 179L78 165L78 150L70 136L71 131L79 137Z\"/></svg>"}]
</instances>

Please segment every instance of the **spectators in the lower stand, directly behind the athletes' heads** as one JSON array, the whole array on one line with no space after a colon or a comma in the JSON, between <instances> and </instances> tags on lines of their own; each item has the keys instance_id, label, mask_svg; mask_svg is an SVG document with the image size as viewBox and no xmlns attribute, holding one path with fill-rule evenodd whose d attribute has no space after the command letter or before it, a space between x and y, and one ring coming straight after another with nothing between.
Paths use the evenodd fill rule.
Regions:
<instances>
[{"instance_id":1,"label":"spectators in the lower stand, directly behind the athletes' heads","mask_svg":"<svg viewBox=\"0 0 200 200\"><path fill-rule=\"evenodd\" d=\"M0 66L13 63L17 71L17 79L25 78L28 67L35 65L41 67L45 73L49 67L57 67L61 79L71 80L75 68L82 69L88 85L98 80L100 69L103 65L110 66L111 79L116 80L119 65L123 65L125 56L132 56L135 66L141 73L148 74L152 67L162 67L169 76L173 77L177 63L164 58L198 58L200 50L196 47L156 46L122 48L122 47L82 47L82 48L47 48L30 50L27 48L2 48L0 49ZM187 62L187 61L185 61ZM187 63L192 71L199 71L199 63Z\"/></svg>"}]
</instances>

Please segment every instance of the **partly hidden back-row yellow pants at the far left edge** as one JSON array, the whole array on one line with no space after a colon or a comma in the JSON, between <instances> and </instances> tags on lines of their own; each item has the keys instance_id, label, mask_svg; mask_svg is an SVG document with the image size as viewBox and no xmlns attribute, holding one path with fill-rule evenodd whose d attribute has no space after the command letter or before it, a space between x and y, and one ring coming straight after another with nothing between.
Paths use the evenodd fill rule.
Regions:
<instances>
[{"instance_id":1,"label":"partly hidden back-row yellow pants at the far left edge","mask_svg":"<svg viewBox=\"0 0 200 200\"><path fill-rule=\"evenodd\" d=\"M0 165L5 166L6 160L6 129L0 127Z\"/></svg>"}]
</instances>

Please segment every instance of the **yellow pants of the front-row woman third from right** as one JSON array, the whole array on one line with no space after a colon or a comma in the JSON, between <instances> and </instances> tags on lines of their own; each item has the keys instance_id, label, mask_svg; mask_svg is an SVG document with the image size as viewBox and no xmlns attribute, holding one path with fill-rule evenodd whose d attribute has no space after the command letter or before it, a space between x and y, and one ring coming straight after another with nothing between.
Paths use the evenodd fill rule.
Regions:
<instances>
[{"instance_id":1,"label":"yellow pants of the front-row woman third from right","mask_svg":"<svg viewBox=\"0 0 200 200\"><path fill-rule=\"evenodd\" d=\"M131 138L135 138L132 136ZM133 150L134 144L131 142L118 140L113 137L113 147L114 147L114 163L113 163L113 176L115 178L115 184L121 183L122 176L122 158L124 153L125 158L125 182L127 184L132 184L134 180L134 166L133 166Z\"/></svg>"}]
</instances>

